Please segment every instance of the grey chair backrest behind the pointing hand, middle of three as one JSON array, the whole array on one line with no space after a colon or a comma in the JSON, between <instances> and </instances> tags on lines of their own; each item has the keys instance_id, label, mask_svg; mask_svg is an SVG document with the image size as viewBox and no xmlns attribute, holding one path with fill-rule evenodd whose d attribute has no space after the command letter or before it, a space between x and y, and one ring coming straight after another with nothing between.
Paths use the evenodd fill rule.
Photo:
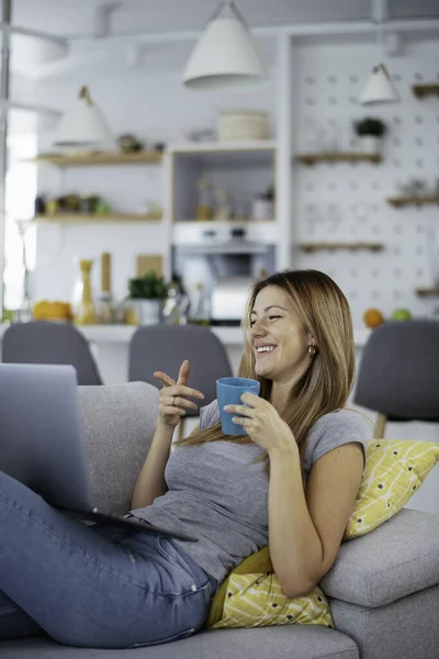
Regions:
<instances>
[{"instance_id":1,"label":"grey chair backrest behind the pointing hand, middle of three","mask_svg":"<svg viewBox=\"0 0 439 659\"><path fill-rule=\"evenodd\" d=\"M233 376L230 362L218 337L199 325L148 325L139 327L130 343L128 380L161 389L154 377L161 370L177 379L189 360L189 384L204 393L203 404L216 399L216 379Z\"/></svg>"}]
</instances>

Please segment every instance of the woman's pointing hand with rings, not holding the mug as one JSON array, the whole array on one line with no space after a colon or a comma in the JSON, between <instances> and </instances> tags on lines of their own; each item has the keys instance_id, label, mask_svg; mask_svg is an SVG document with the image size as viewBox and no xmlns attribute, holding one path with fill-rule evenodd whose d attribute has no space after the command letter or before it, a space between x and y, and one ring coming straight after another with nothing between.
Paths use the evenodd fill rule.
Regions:
<instances>
[{"instance_id":1,"label":"woman's pointing hand with rings, not holding the mug","mask_svg":"<svg viewBox=\"0 0 439 659\"><path fill-rule=\"evenodd\" d=\"M159 396L158 421L167 428L175 428L187 410L199 409L195 403L188 399L203 399L204 395L201 391L188 387L189 361L183 361L181 365L177 382L161 371L156 371L154 377L164 384Z\"/></svg>"}]
</instances>

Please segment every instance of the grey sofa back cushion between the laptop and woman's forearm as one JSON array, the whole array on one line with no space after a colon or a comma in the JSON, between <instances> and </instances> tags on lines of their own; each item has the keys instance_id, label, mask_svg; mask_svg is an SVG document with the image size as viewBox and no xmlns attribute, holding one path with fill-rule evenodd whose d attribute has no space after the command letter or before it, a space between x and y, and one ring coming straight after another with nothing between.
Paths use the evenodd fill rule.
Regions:
<instances>
[{"instance_id":1,"label":"grey sofa back cushion between the laptop and woman's forearm","mask_svg":"<svg viewBox=\"0 0 439 659\"><path fill-rule=\"evenodd\" d=\"M158 390L145 382L78 387L93 502L125 514L158 415Z\"/></svg>"}]
</instances>

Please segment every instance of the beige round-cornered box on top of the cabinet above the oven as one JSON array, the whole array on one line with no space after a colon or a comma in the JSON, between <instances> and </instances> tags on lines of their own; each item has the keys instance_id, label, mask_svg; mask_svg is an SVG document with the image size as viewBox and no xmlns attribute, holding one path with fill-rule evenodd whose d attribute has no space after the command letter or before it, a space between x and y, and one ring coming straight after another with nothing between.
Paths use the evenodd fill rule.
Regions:
<instances>
[{"instance_id":1,"label":"beige round-cornered box on top of the cabinet above the oven","mask_svg":"<svg viewBox=\"0 0 439 659\"><path fill-rule=\"evenodd\" d=\"M256 110L228 110L219 114L218 142L269 138L269 116Z\"/></svg>"}]
</instances>

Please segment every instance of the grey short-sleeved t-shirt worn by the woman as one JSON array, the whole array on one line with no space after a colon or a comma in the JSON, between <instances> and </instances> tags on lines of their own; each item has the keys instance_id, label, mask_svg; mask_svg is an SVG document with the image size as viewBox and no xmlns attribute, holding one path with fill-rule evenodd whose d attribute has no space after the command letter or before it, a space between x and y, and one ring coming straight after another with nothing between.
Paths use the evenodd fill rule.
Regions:
<instances>
[{"instance_id":1,"label":"grey short-sleeved t-shirt worn by the woman","mask_svg":"<svg viewBox=\"0 0 439 659\"><path fill-rule=\"evenodd\" d=\"M219 421L216 401L201 409L200 427ZM364 450L365 423L348 410L322 416L311 429L304 474L328 451L358 442ZM183 551L223 581L247 556L268 545L268 477L264 449L227 440L173 448L165 470L168 492L151 505L132 511L168 530L184 532L198 543L175 540Z\"/></svg>"}]
</instances>

